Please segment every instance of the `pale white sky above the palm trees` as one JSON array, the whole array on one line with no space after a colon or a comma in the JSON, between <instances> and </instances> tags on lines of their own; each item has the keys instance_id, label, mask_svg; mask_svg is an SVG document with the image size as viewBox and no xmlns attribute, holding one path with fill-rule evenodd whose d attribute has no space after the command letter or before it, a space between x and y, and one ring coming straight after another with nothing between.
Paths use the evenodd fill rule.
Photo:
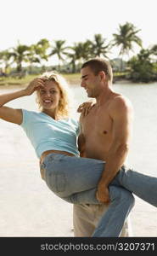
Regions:
<instances>
[{"instance_id":1,"label":"pale white sky above the palm trees","mask_svg":"<svg viewBox=\"0 0 157 256\"><path fill-rule=\"evenodd\" d=\"M0 9L0 50L42 38L72 45L97 33L109 42L126 21L141 29L144 48L157 44L156 0L0 0Z\"/></svg>"}]
</instances>

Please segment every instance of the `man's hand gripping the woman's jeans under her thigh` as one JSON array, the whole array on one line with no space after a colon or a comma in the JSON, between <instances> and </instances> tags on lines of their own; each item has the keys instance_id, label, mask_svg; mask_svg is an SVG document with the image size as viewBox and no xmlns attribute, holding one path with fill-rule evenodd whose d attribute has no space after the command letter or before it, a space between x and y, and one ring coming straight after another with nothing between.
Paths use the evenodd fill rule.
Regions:
<instances>
[{"instance_id":1,"label":"man's hand gripping the woman's jeans under her thigh","mask_svg":"<svg viewBox=\"0 0 157 256\"><path fill-rule=\"evenodd\" d=\"M109 203L109 189L105 187L103 183L98 184L98 190L96 192L96 197L101 203Z\"/></svg>"}]
</instances>

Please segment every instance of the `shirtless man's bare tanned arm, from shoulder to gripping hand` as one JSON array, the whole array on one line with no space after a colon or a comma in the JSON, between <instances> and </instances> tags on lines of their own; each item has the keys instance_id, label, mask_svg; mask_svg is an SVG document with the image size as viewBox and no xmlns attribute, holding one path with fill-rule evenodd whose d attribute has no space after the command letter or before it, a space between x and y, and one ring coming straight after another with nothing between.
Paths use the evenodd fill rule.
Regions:
<instances>
[{"instance_id":1,"label":"shirtless man's bare tanned arm, from shoulder to gripping hand","mask_svg":"<svg viewBox=\"0 0 157 256\"><path fill-rule=\"evenodd\" d=\"M132 134L132 104L118 96L109 108L113 120L113 141L105 159L105 171L98 183L98 201L109 201L108 186L126 160Z\"/></svg>"}]
</instances>

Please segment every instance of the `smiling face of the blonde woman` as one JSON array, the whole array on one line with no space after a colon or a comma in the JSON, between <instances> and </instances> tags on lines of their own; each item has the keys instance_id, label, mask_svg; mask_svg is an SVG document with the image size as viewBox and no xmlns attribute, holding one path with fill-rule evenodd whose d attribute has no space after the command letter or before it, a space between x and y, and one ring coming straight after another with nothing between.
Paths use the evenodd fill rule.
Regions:
<instances>
[{"instance_id":1,"label":"smiling face of the blonde woman","mask_svg":"<svg viewBox=\"0 0 157 256\"><path fill-rule=\"evenodd\" d=\"M59 107L60 90L53 81L45 82L45 88L38 91L38 97L42 110L55 110Z\"/></svg>"}]
</instances>

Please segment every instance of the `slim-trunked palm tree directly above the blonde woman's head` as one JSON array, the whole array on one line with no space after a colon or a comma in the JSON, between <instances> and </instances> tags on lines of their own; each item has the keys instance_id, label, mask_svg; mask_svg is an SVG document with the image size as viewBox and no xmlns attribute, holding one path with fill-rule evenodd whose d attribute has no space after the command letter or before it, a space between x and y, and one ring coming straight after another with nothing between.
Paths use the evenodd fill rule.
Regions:
<instances>
[{"instance_id":1,"label":"slim-trunked palm tree directly above the blonde woman's head","mask_svg":"<svg viewBox=\"0 0 157 256\"><path fill-rule=\"evenodd\" d=\"M57 55L59 59L59 69L60 69L60 61L64 61L63 55L67 55L67 52L65 49L68 49L69 47L64 46L65 40L55 40L55 45L53 47L52 52L49 54L49 56Z\"/></svg>"}]
</instances>

